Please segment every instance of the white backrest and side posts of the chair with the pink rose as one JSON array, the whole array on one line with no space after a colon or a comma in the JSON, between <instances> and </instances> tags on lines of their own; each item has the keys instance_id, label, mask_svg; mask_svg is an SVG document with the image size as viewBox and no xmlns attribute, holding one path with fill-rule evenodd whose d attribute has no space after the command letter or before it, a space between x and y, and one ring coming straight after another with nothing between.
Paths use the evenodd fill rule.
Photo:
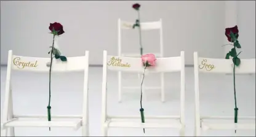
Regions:
<instances>
[{"instance_id":1,"label":"white backrest and side posts of the chair with the pink rose","mask_svg":"<svg viewBox=\"0 0 256 137\"><path fill-rule=\"evenodd\" d=\"M126 71L142 73L143 65L141 58L134 57L120 57L108 55L106 51L103 52L103 83L102 83L102 119L106 120L106 78L107 71ZM183 122L184 118L184 104L185 104L185 55L180 52L180 57L166 57L156 58L156 66L146 68L145 72L180 72L181 74L181 109L180 115Z\"/></svg>"}]
</instances>

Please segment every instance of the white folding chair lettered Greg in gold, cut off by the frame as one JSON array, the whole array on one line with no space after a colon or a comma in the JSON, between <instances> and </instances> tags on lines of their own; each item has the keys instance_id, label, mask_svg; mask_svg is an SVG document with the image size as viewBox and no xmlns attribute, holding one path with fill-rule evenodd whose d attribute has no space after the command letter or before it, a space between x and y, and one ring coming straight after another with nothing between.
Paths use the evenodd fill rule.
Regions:
<instances>
[{"instance_id":1,"label":"white folding chair lettered Greg in gold, cut off by the frame","mask_svg":"<svg viewBox=\"0 0 256 137\"><path fill-rule=\"evenodd\" d=\"M207 61L208 66L200 69L199 65L202 61ZM195 91L195 136L201 136L201 131L204 130L255 130L254 117L238 117L241 120L249 120L249 122L234 123L234 116L201 116L199 109L199 72L212 74L233 74L233 61L220 58L203 58L198 57L198 53L194 52L194 91ZM209 65L214 65L211 69ZM209 67L209 68L208 68ZM201 66L202 68L202 66ZM211 70L210 70L211 69ZM209 71L210 70L210 71ZM255 58L241 59L241 65L236 67L236 74L255 74ZM220 123L209 122L206 120L217 120ZM228 120L221 122L221 120ZM229 121L230 120L230 121ZM216 121L216 122L217 122Z\"/></svg>"}]
</instances>

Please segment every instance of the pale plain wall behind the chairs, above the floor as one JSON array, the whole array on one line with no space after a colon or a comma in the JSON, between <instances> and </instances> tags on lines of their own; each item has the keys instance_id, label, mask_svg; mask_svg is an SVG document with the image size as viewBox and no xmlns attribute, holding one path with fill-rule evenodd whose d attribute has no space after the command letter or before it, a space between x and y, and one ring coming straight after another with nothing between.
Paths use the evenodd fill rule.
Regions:
<instances>
[{"instance_id":1,"label":"pale plain wall behind the chairs, above the floor","mask_svg":"<svg viewBox=\"0 0 256 137\"><path fill-rule=\"evenodd\" d=\"M1 64L8 50L15 55L49 57L49 23L60 22L65 33L58 44L67 57L90 51L90 64L101 65L103 50L116 55L118 18L134 21L132 4L139 2L142 22L163 21L164 55L185 51L186 64L193 52L223 58L225 1L1 1ZM255 58L255 1L238 1L239 39L243 58ZM122 33L122 45L139 52L137 31ZM142 36L145 52L158 50L157 31Z\"/></svg>"}]
</instances>

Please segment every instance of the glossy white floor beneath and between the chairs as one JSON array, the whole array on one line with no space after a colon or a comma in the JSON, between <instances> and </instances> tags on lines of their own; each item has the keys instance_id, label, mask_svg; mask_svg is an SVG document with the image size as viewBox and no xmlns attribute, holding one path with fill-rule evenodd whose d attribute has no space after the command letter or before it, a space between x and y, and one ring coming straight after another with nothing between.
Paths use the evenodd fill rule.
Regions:
<instances>
[{"instance_id":1,"label":"glossy white floor beneath and between the chairs","mask_svg":"<svg viewBox=\"0 0 256 137\"><path fill-rule=\"evenodd\" d=\"M194 74L186 68L186 136L194 131ZM139 115L140 90L123 93L123 102L118 103L117 72L108 73L108 113ZM145 77L146 85L158 85L159 75ZM160 101L160 91L147 90L143 101L145 115L179 114L180 74L165 74L166 103ZM234 115L233 77L222 74L201 74L200 97L203 115ZM236 76L239 116L255 115L255 75ZM82 72L54 74L52 76L52 114L81 114ZM140 83L137 75L124 76L126 85ZM4 101L6 67L1 67L1 111ZM49 74L13 72L12 87L15 114L47 114ZM89 68L89 129L90 136L100 136L100 114L102 99L102 68ZM2 117L2 114L1 114ZM145 116L146 119L146 116ZM81 130L70 128L15 128L16 136L81 136ZM177 130L111 128L109 136L178 136ZM234 130L207 131L204 136L255 136L255 131Z\"/></svg>"}]
</instances>

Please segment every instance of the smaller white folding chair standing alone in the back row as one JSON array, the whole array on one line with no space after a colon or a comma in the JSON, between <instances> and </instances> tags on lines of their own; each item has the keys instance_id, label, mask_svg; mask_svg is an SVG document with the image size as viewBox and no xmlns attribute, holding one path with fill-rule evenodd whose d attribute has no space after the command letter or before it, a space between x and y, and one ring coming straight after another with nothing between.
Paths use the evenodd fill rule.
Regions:
<instances>
[{"instance_id":1,"label":"smaller white folding chair standing alone in the back row","mask_svg":"<svg viewBox=\"0 0 256 137\"><path fill-rule=\"evenodd\" d=\"M138 53L123 53L122 52L122 46L121 46L121 30L122 29L133 29L132 26L134 25L134 22L126 22L122 21L120 18L118 19L118 56L121 57L140 57L140 51L138 50ZM162 19L160 19L157 22L142 22L140 23L142 31L152 30L152 29L159 29L159 36L160 36L160 52L154 53L156 57L164 57L164 49L163 49L163 42L162 42ZM144 47L146 48L146 47ZM146 53L143 53L146 54ZM140 77L138 77L140 79ZM122 88L126 89L139 89L140 87L135 86L122 86L122 75L121 72L118 72L118 94L119 94L119 102L122 101L121 94L122 94ZM161 89L161 101L165 101L165 95L164 95L164 73L161 73L161 87L150 87L146 86L143 88L145 90L147 89Z\"/></svg>"}]
</instances>

